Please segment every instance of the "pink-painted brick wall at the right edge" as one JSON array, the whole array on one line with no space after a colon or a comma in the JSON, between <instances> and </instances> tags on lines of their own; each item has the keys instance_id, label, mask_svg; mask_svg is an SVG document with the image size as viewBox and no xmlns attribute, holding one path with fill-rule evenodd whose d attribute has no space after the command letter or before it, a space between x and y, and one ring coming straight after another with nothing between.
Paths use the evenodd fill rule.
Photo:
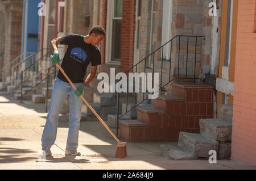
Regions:
<instances>
[{"instance_id":1,"label":"pink-painted brick wall at the right edge","mask_svg":"<svg viewBox=\"0 0 256 181\"><path fill-rule=\"evenodd\" d=\"M255 1L238 1L232 159L256 165Z\"/></svg>"}]
</instances>

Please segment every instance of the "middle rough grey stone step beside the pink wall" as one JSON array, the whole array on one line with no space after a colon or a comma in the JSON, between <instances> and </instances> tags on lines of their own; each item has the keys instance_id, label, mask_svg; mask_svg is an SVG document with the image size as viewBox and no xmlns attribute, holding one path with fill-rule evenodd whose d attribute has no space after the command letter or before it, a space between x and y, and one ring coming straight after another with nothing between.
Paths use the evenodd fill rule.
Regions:
<instances>
[{"instance_id":1,"label":"middle rough grey stone step beside the pink wall","mask_svg":"<svg viewBox=\"0 0 256 181\"><path fill-rule=\"evenodd\" d=\"M208 140L201 134L180 132L178 146L192 153L193 158L209 158L209 151L218 151L218 141Z\"/></svg>"}]
</instances>

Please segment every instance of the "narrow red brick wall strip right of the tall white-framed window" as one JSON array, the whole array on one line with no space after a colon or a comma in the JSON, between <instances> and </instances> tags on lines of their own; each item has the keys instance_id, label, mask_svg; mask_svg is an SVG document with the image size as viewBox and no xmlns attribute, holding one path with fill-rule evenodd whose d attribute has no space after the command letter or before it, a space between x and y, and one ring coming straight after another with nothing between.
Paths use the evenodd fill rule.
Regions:
<instances>
[{"instance_id":1,"label":"narrow red brick wall strip right of the tall white-framed window","mask_svg":"<svg viewBox=\"0 0 256 181\"><path fill-rule=\"evenodd\" d=\"M135 0L123 0L121 32L121 71L126 71L133 66L135 9Z\"/></svg>"}]
</instances>

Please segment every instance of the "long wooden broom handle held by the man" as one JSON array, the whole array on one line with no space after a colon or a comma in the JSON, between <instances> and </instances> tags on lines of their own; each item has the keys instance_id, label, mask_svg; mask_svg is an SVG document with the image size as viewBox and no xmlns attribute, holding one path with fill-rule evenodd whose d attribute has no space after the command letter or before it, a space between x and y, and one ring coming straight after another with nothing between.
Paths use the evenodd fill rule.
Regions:
<instances>
[{"instance_id":1,"label":"long wooden broom handle held by the man","mask_svg":"<svg viewBox=\"0 0 256 181\"><path fill-rule=\"evenodd\" d=\"M63 75L65 76L65 78L68 80L68 82L71 84L71 86L73 87L73 89L77 90L76 86L73 84L73 82L71 81L71 79L68 78L68 75L65 74L64 70L61 68L61 66L59 64L56 64L57 68L60 69L60 71L63 73ZM98 115L98 113L92 108L92 106L90 106L90 104L87 102L87 100L84 98L84 96L80 95L80 98L85 102L85 104L90 108L90 110L94 113L94 115L98 118L98 120L101 121L102 125L104 125L104 127L109 131L109 133L114 137L115 141L117 141L118 144L121 143L121 141L115 136L115 134L111 131L111 129L108 127L108 125L106 125L106 123L104 122L104 120L101 119L101 117Z\"/></svg>"}]
</instances>

